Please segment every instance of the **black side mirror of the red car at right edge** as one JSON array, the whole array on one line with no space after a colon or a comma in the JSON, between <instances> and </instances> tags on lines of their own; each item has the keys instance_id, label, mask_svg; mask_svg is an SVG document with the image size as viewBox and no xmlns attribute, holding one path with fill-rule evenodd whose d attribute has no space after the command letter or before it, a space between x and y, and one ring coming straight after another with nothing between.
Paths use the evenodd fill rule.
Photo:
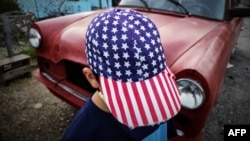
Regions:
<instances>
[{"instance_id":1,"label":"black side mirror of the red car at right edge","mask_svg":"<svg viewBox=\"0 0 250 141\"><path fill-rule=\"evenodd\" d=\"M249 7L235 7L230 9L231 17L250 17Z\"/></svg>"}]
</instances>

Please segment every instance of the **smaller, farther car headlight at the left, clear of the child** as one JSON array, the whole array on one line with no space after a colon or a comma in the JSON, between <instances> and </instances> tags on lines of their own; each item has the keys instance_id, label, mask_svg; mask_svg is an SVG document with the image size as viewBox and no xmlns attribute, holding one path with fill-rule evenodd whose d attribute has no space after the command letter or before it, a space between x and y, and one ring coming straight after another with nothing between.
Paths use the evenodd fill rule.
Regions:
<instances>
[{"instance_id":1,"label":"smaller, farther car headlight at the left, clear of the child","mask_svg":"<svg viewBox=\"0 0 250 141\"><path fill-rule=\"evenodd\" d=\"M29 31L29 42L32 47L38 48L41 42L41 35L38 30L31 28Z\"/></svg>"}]
</instances>

